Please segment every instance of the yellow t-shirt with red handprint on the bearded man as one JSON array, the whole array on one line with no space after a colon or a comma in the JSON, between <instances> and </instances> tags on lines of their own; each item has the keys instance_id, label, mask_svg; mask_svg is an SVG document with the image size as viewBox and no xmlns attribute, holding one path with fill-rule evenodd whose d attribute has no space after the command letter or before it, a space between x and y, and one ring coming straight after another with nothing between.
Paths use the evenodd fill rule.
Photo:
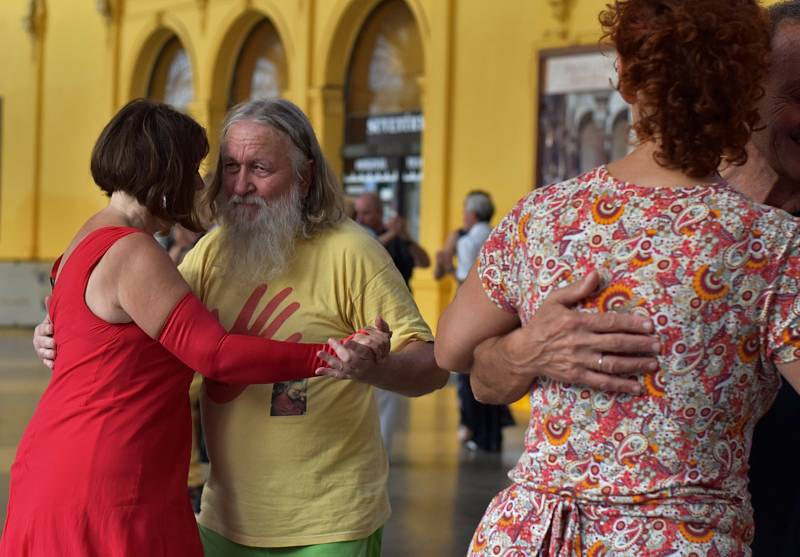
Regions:
<instances>
[{"instance_id":1,"label":"yellow t-shirt with red handprint on the bearded man","mask_svg":"<svg viewBox=\"0 0 800 557\"><path fill-rule=\"evenodd\" d=\"M381 315L393 350L433 340L386 250L350 220L298 241L290 269L270 284L224 282L214 266L218 237L206 235L180 270L228 330L325 342ZM201 402L211 460L203 526L240 544L287 547L363 538L388 519L370 386L314 378L251 385L225 404L204 392Z\"/></svg>"}]
</instances>

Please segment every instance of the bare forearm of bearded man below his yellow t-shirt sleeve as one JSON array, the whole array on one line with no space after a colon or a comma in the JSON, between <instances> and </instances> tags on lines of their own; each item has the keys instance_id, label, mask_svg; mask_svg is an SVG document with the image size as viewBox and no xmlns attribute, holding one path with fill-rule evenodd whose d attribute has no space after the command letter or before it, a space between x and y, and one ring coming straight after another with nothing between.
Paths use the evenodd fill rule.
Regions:
<instances>
[{"instance_id":1,"label":"bare forearm of bearded man below his yellow t-shirt sleeve","mask_svg":"<svg viewBox=\"0 0 800 557\"><path fill-rule=\"evenodd\" d=\"M405 396L421 396L447 383L449 373L436 365L433 343L414 341L392 352L369 383Z\"/></svg>"}]
</instances>

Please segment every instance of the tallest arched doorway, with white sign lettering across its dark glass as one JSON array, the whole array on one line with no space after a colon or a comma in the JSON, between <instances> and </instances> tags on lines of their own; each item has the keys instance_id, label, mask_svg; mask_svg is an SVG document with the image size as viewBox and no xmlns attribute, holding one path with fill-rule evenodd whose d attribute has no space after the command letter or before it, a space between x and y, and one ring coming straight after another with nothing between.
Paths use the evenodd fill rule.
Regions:
<instances>
[{"instance_id":1,"label":"tallest arched doorway, with white sign lettering across its dark glass","mask_svg":"<svg viewBox=\"0 0 800 557\"><path fill-rule=\"evenodd\" d=\"M419 235L423 130L422 41L403 0L386 0L356 39L345 84L344 184L348 195L376 191L385 214Z\"/></svg>"}]
</instances>

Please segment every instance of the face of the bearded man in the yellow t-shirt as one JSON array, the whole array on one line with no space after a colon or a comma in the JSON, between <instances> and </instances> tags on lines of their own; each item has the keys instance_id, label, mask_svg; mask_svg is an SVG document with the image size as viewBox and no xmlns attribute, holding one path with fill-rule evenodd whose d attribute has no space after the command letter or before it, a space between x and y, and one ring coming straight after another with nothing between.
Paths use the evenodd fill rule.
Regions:
<instances>
[{"instance_id":1,"label":"face of the bearded man in the yellow t-shirt","mask_svg":"<svg viewBox=\"0 0 800 557\"><path fill-rule=\"evenodd\" d=\"M298 185L289 138L254 121L233 124L222 147L222 186L242 218L255 218L269 204Z\"/></svg>"}]
</instances>

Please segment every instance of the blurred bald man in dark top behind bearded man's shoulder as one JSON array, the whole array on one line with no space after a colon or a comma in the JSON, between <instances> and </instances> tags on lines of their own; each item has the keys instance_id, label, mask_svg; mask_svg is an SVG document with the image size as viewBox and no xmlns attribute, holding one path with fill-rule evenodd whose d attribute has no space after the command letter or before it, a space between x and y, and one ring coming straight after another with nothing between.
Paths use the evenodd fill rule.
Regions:
<instances>
[{"instance_id":1,"label":"blurred bald man in dark top behind bearded man's shoulder","mask_svg":"<svg viewBox=\"0 0 800 557\"><path fill-rule=\"evenodd\" d=\"M356 222L374 236L389 252L395 267L400 271L406 285L411 280L415 267L430 267L428 252L408 235L405 220L395 215L388 223L383 222L383 204L377 193L365 192L354 203ZM381 437L386 454L391 458L394 434L402 418L408 414L408 401L401 395L375 390L378 414L381 420Z\"/></svg>"}]
</instances>

